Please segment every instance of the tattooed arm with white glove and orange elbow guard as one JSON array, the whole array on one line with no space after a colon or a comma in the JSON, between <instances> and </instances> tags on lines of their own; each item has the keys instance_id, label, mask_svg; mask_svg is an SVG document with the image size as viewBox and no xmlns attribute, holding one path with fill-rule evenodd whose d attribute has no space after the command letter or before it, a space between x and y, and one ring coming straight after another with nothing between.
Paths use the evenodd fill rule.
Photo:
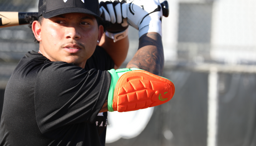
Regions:
<instances>
[{"instance_id":1,"label":"tattooed arm with white glove and orange elbow guard","mask_svg":"<svg viewBox=\"0 0 256 146\"><path fill-rule=\"evenodd\" d=\"M109 71L109 97L101 111L106 107L110 112L154 107L168 102L175 92L173 82L159 76L164 68L159 0L135 0L126 6L127 22L139 30L139 49L126 68Z\"/></svg>"}]
</instances>

